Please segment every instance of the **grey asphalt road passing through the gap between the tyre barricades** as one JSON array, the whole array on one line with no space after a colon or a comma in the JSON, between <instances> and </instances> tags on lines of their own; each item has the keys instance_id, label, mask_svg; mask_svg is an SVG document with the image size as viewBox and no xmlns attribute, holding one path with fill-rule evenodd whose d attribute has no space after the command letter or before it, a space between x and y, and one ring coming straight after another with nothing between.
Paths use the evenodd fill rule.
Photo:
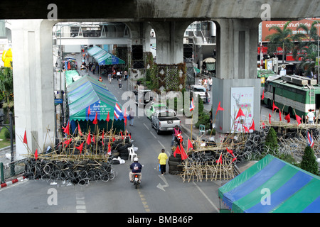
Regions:
<instances>
[{"instance_id":1,"label":"grey asphalt road passing through the gap between the tyre barricades","mask_svg":"<svg viewBox=\"0 0 320 227\"><path fill-rule=\"evenodd\" d=\"M97 77L97 75L95 75ZM107 79L104 80L107 82ZM107 87L120 103L123 91L117 80ZM134 118L134 126L127 126L133 144L138 148L139 162L144 165L142 184L135 189L129 182L130 160L113 165L117 176L109 182L90 182L86 185L52 185L41 180L24 180L0 189L0 212L87 212L87 213L218 213L218 188L215 182L184 182L177 175L164 176L156 170L162 148L171 154L171 134L157 135L146 116Z\"/></svg>"}]
</instances>

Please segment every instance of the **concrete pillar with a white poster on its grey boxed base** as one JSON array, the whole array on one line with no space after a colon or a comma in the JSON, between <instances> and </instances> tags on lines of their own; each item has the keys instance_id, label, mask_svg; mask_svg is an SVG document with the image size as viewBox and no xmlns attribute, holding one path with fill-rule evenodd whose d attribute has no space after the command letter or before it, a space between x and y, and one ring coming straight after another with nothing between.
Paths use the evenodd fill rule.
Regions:
<instances>
[{"instance_id":1,"label":"concrete pillar with a white poster on its grey boxed base","mask_svg":"<svg viewBox=\"0 0 320 227\"><path fill-rule=\"evenodd\" d=\"M213 79L213 113L218 133L234 131L242 126L255 129L260 123L260 79L257 78L258 20L218 19L217 23L217 74ZM239 107L245 113L242 125L235 122ZM239 120L240 118L238 118ZM240 127L241 126L241 127Z\"/></svg>"}]
</instances>

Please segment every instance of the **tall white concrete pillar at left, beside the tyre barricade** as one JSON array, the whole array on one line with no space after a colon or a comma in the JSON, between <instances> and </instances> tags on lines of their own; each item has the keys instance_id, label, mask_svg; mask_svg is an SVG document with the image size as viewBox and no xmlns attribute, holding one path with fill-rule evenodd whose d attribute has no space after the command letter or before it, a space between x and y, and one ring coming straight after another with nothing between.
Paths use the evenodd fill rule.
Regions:
<instances>
[{"instance_id":1,"label":"tall white concrete pillar at left, beside the tyre barricade","mask_svg":"<svg viewBox=\"0 0 320 227\"><path fill-rule=\"evenodd\" d=\"M54 22L13 20L12 52L14 70L14 115L16 158L42 153L54 143L55 116L53 96ZM26 131L28 149L23 144Z\"/></svg>"}]
</instances>

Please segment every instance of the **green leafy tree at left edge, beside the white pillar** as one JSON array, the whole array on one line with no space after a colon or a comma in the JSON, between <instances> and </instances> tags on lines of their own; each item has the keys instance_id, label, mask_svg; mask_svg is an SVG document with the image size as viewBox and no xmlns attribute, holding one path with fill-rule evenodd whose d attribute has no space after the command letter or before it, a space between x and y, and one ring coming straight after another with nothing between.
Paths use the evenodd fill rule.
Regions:
<instances>
[{"instance_id":1,"label":"green leafy tree at left edge, beside the white pillar","mask_svg":"<svg viewBox=\"0 0 320 227\"><path fill-rule=\"evenodd\" d=\"M10 109L14 107L14 76L11 67L0 67L0 91L9 118Z\"/></svg>"}]
</instances>

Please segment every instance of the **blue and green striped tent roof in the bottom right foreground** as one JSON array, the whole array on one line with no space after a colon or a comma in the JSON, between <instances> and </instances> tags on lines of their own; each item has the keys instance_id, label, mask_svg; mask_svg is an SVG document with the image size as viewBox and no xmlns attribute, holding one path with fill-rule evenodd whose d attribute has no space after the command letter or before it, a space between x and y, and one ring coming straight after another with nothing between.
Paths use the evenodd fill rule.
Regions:
<instances>
[{"instance_id":1,"label":"blue and green striped tent roof in the bottom right foreground","mask_svg":"<svg viewBox=\"0 0 320 227\"><path fill-rule=\"evenodd\" d=\"M320 177L272 155L220 187L218 194L236 213L320 212ZM267 204L264 196L270 196Z\"/></svg>"}]
</instances>

